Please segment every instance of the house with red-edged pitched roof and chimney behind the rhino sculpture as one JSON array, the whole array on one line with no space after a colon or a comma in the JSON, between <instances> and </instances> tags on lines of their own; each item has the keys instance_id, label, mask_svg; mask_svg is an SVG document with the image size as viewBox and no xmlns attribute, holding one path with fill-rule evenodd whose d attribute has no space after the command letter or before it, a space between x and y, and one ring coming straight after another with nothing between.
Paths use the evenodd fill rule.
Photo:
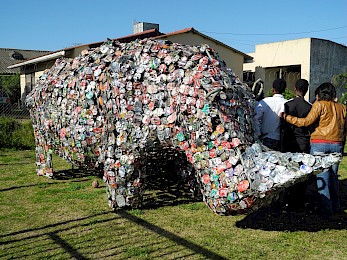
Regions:
<instances>
[{"instance_id":1,"label":"house with red-edged pitched roof and chimney behind the rhino sculpture","mask_svg":"<svg viewBox=\"0 0 347 260\"><path fill-rule=\"evenodd\" d=\"M159 31L158 24L144 23L144 25L145 26L139 26L139 23L136 23L136 25L134 25L135 33L128 36L115 38L113 40L120 42L130 42L135 39L151 38L164 39L171 42L189 45L208 44L211 48L215 49L219 53L221 59L226 62L226 65L230 67L233 72L241 78L241 80L243 75L243 63L250 62L253 59L248 54L242 53L241 51L238 51L220 41L204 35L194 28L186 28L183 30L164 34ZM147 30L141 31L142 29ZM63 50L51 52L49 54L9 66L9 69L20 68L22 99L24 100L26 94L32 90L36 80L43 74L45 69L53 66L57 58L77 57L82 52L82 50L98 47L103 42L104 41L65 48Z\"/></svg>"}]
</instances>

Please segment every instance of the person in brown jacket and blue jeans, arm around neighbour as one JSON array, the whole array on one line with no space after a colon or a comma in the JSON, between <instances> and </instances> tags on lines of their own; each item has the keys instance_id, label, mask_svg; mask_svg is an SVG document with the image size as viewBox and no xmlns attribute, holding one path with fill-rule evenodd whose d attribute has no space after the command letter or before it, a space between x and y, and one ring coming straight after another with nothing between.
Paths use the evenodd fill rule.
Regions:
<instances>
[{"instance_id":1,"label":"person in brown jacket and blue jeans, arm around neighbour","mask_svg":"<svg viewBox=\"0 0 347 260\"><path fill-rule=\"evenodd\" d=\"M316 101L305 118L282 114L288 123L296 126L309 126L317 123L311 134L311 154L341 153L346 141L346 106L336 102L336 90L331 83L323 83L316 90ZM330 218L334 212L339 212L338 164L316 175L317 188L321 201L319 210Z\"/></svg>"}]
</instances>

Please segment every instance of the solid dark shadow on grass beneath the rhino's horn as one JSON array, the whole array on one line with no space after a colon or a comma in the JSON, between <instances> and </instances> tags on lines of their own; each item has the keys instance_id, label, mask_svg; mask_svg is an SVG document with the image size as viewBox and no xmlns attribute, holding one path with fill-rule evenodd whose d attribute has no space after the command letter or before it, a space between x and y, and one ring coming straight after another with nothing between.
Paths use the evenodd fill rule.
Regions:
<instances>
[{"instance_id":1,"label":"solid dark shadow on grass beneath the rhino's horn","mask_svg":"<svg viewBox=\"0 0 347 260\"><path fill-rule=\"evenodd\" d=\"M347 214L336 213L331 219L321 217L317 212L319 199L316 190L307 191L308 204L305 209L288 210L280 203L260 209L236 222L239 228L252 228L268 231L308 231L316 232L325 229L347 229ZM347 209L347 179L339 181L340 201L343 211Z\"/></svg>"}]
</instances>

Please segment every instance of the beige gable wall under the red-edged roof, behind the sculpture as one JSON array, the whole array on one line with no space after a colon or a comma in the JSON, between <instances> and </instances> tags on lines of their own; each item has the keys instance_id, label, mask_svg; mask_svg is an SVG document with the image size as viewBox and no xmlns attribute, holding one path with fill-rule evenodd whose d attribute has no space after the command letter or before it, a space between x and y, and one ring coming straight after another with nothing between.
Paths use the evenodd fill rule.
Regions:
<instances>
[{"instance_id":1,"label":"beige gable wall under the red-edged roof, behind the sculpture","mask_svg":"<svg viewBox=\"0 0 347 260\"><path fill-rule=\"evenodd\" d=\"M168 40L177 42L180 44L188 45L201 45L202 43L207 44L212 49L216 50L222 60L225 61L226 65L232 69L232 71L242 80L243 77L243 60L244 57L240 53L234 52L233 50L219 45L210 39L203 38L198 34L192 32L184 34L169 35Z\"/></svg>"}]
</instances>

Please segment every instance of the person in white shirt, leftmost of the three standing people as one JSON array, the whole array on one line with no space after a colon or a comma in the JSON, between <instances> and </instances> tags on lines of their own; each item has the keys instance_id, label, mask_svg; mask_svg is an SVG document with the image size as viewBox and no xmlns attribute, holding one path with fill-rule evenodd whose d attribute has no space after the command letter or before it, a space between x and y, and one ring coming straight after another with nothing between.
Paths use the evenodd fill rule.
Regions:
<instances>
[{"instance_id":1,"label":"person in white shirt, leftmost of the three standing people","mask_svg":"<svg viewBox=\"0 0 347 260\"><path fill-rule=\"evenodd\" d=\"M284 111L284 103L287 102L282 95L286 87L284 79L275 79L272 84L273 96L260 100L256 107L255 133L265 146L276 151L280 150L279 114Z\"/></svg>"}]
</instances>

